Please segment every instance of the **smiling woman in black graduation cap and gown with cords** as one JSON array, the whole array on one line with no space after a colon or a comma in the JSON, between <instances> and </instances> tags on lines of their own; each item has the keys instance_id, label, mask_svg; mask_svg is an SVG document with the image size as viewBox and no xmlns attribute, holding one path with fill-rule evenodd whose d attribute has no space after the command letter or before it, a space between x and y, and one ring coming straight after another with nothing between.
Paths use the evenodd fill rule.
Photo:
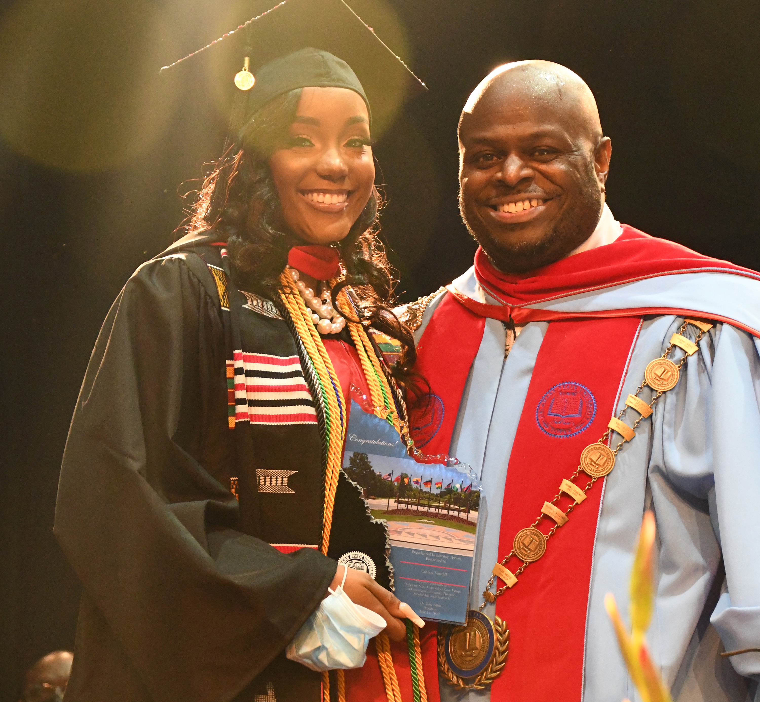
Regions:
<instances>
[{"instance_id":1,"label":"smiling woman in black graduation cap and gown with cords","mask_svg":"<svg viewBox=\"0 0 760 702\"><path fill-rule=\"evenodd\" d=\"M434 627L340 470L352 398L408 440L367 93L416 78L315 5L242 27L231 143L90 359L55 518L84 583L67 700L438 698Z\"/></svg>"}]
</instances>

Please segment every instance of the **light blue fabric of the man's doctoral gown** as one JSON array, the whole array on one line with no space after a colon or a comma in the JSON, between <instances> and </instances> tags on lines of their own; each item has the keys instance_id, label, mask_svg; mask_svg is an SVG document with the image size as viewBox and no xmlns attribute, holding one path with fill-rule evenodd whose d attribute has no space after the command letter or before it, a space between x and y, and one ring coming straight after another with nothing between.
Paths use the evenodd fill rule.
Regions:
<instances>
[{"instance_id":1,"label":"light blue fabric of the man's doctoral gown","mask_svg":"<svg viewBox=\"0 0 760 702\"><path fill-rule=\"evenodd\" d=\"M737 279L721 274L667 276L543 306L693 309L694 291L701 290L697 297L704 304L698 309L709 305L727 315L727 308L738 305L739 315L757 321L760 299L746 299L746 294L736 299L736 286L717 284L718 278L730 279L732 285ZM472 269L454 286L474 299L498 304L480 288ZM752 281L745 293L756 286ZM417 340L442 298L426 309ZM689 304L679 304L679 299ZM502 322L486 320L454 429L451 455L470 463L484 485L470 588L475 609L483 601L492 564L503 556L498 552L499 524L509 454L548 324L527 324L505 359ZM635 393L645 366L663 353L681 324L682 318L671 315L644 318L617 410ZM694 327L685 336L694 340ZM676 359L680 356L676 349ZM603 598L613 593L625 617L638 530L648 508L657 519L657 596L647 638L673 699L760 702L760 653L718 656L724 650L760 647L760 346L752 335L729 324L716 324L705 334L679 384L655 406L651 421L641 422L636 438L625 444L605 479L588 599L583 702L641 699L619 653ZM486 606L485 612L492 617L495 606ZM443 702L490 699L488 689L455 691L443 678L440 684Z\"/></svg>"}]
</instances>

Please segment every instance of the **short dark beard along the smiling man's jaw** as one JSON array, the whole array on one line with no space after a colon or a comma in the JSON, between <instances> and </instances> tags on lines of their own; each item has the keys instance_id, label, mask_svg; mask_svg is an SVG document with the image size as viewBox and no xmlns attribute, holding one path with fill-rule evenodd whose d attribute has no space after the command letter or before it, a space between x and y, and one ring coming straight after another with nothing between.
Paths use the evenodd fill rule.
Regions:
<instances>
[{"instance_id":1,"label":"short dark beard along the smiling man's jaw","mask_svg":"<svg viewBox=\"0 0 760 702\"><path fill-rule=\"evenodd\" d=\"M525 273L527 270L548 266L578 248L594 233L599 222L602 196L597 186L593 164L590 169L591 178L587 180L587 185L581 191L575 206L565 210L553 228L538 241L499 242L492 238L486 227L483 227L483 232L477 236L467 222L460 191L459 211L462 220L473 239L483 247L491 263L502 273ZM512 224L505 226L505 229L519 232L521 227L521 224Z\"/></svg>"}]
</instances>

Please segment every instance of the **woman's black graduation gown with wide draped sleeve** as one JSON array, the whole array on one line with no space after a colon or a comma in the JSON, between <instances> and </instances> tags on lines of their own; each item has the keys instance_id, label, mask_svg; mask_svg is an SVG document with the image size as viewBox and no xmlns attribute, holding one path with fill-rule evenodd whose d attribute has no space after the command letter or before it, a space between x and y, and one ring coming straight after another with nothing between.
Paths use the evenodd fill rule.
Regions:
<instances>
[{"instance_id":1,"label":"woman's black graduation gown with wide draped sleeve","mask_svg":"<svg viewBox=\"0 0 760 702\"><path fill-rule=\"evenodd\" d=\"M325 595L333 558L369 552L391 584L385 528L345 476L333 558L269 545L319 542L322 440L317 425L246 422L241 465L241 425L227 425L229 329L204 264L220 260L197 248L206 242L182 240L135 272L87 368L55 513L84 585L67 702L243 702L268 683L278 702L318 700L319 675L283 650ZM245 311L241 335L246 351L302 351L287 320ZM257 466L299 470L295 498L258 495Z\"/></svg>"}]
</instances>

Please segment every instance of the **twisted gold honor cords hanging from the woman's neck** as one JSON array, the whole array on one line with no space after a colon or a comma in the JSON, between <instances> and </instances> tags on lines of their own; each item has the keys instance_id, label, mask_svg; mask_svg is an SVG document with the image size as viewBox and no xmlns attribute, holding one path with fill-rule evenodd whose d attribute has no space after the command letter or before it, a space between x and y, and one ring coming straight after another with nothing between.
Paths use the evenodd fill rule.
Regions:
<instances>
[{"instance_id":1,"label":"twisted gold honor cords hanging from the woman's neck","mask_svg":"<svg viewBox=\"0 0 760 702\"><path fill-rule=\"evenodd\" d=\"M321 386L322 397L325 400L325 424L328 433L328 456L325 468L325 508L322 520L322 542L320 551L327 555L330 545L330 530L332 527L333 510L335 506L335 492L337 491L337 482L340 476L340 468L343 463L343 447L347 430L347 411L345 401L343 409L339 406L337 394L340 393L340 382L337 373L332 365L330 356L325 349L318 330L312 321L312 311L306 307L298 289L293 284L293 280L287 274L287 270L280 274L280 299L286 306L293 324L301 338L306 353L314 365L315 372ZM348 299L346 289L342 289L338 295L340 302L348 308L353 308ZM353 321L349 315L344 312L344 317L349 326L351 338L356 346L356 353L359 354L359 361L362 365L369 392L372 406L376 415L391 423L401 435L401 425L395 411L393 403L393 394L388 384L388 378L382 370L382 365L375 355L375 349L367 337L366 330L357 318ZM402 435L402 438L403 435ZM408 443L408 441L407 441ZM410 651L416 660L422 661L422 652L420 650L419 629L413 625L416 631L414 637L414 650ZM375 637L375 647L378 652L378 663L385 685L385 694L388 702L402 702L401 691L398 687L396 671L393 666L391 657L391 642L388 640L388 634L382 631ZM337 677L337 698L338 702L345 702L345 675L344 671L338 669ZM425 699L424 694L425 679L423 677L422 666L418 666L419 690L415 690L415 702L417 698ZM322 698L324 702L330 700L330 675L328 671L322 672Z\"/></svg>"}]
</instances>

